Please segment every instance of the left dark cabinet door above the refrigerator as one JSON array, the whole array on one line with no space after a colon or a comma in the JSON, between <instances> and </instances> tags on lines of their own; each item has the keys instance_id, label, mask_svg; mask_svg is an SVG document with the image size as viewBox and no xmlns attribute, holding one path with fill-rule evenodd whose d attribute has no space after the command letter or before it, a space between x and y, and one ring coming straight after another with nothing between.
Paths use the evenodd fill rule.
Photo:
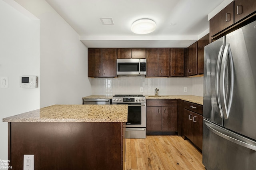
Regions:
<instances>
[{"instance_id":1,"label":"left dark cabinet door above the refrigerator","mask_svg":"<svg viewBox=\"0 0 256 170\"><path fill-rule=\"evenodd\" d=\"M234 24L234 2L210 19L210 38Z\"/></svg>"}]
</instances>

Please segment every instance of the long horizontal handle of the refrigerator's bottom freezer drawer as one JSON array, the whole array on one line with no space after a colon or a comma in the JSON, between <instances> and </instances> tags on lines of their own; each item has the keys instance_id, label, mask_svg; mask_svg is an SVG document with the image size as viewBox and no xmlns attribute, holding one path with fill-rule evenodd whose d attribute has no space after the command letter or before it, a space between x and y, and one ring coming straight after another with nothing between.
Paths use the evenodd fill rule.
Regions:
<instances>
[{"instance_id":1,"label":"long horizontal handle of the refrigerator's bottom freezer drawer","mask_svg":"<svg viewBox=\"0 0 256 170\"><path fill-rule=\"evenodd\" d=\"M205 125L209 130L211 130L218 136L225 138L226 140L229 140L230 142L236 143L240 146L244 146L246 148L256 151L256 142L250 139L244 138L243 136L240 136L238 134L234 134L233 132L230 132L226 129L217 127L212 123L205 122Z\"/></svg>"}]
</instances>

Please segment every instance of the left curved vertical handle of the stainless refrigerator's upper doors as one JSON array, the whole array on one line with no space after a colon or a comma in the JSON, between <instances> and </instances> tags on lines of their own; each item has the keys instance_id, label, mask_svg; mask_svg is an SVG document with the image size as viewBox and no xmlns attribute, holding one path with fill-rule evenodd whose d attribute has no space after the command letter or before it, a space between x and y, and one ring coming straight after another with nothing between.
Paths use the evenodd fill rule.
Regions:
<instances>
[{"instance_id":1,"label":"left curved vertical handle of the stainless refrigerator's upper doors","mask_svg":"<svg viewBox=\"0 0 256 170\"><path fill-rule=\"evenodd\" d=\"M216 73L215 73L215 91L216 91L216 99L217 99L217 105L220 110L220 117L223 118L223 110L220 104L220 62L222 60L223 56L223 50L224 50L224 44L221 45L219 55L218 55L218 60L217 60L217 65L216 65Z\"/></svg>"}]
</instances>

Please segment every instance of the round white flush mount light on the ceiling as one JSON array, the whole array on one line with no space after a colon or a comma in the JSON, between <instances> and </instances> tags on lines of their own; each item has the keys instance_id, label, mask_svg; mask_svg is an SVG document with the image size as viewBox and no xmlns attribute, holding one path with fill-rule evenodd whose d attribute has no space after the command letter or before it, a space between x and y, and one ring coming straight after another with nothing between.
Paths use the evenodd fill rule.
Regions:
<instances>
[{"instance_id":1,"label":"round white flush mount light on the ceiling","mask_svg":"<svg viewBox=\"0 0 256 170\"><path fill-rule=\"evenodd\" d=\"M131 27L135 34L149 34L156 30L156 23L150 19L136 20Z\"/></svg>"}]
</instances>

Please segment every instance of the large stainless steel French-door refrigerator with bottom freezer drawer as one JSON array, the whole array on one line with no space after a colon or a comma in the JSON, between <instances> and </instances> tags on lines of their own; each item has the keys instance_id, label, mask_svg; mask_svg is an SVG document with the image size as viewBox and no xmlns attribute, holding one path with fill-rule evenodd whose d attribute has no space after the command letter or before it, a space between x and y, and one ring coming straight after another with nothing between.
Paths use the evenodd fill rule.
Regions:
<instances>
[{"instance_id":1,"label":"large stainless steel French-door refrigerator with bottom freezer drawer","mask_svg":"<svg viewBox=\"0 0 256 170\"><path fill-rule=\"evenodd\" d=\"M256 170L256 21L204 47L203 164Z\"/></svg>"}]
</instances>

